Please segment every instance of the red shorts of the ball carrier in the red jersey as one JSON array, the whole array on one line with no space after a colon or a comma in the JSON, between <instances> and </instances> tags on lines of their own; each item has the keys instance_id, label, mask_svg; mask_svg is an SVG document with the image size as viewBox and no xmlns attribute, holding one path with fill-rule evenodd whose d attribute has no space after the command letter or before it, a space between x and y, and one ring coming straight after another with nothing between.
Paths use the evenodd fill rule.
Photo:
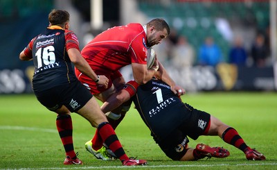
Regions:
<instances>
[{"instance_id":1,"label":"red shorts of the ball carrier in the red jersey","mask_svg":"<svg viewBox=\"0 0 277 170\"><path fill-rule=\"evenodd\" d=\"M78 80L80 80L80 82L87 87L87 89L91 92L91 94L100 94L101 92L108 90L111 87L113 80L115 80L116 78L122 77L122 74L120 74L119 71L115 71L111 73L110 71L98 69L96 74L104 75L107 78L109 78L109 85L107 89L103 85L96 84L93 80L91 80L91 78L82 74L78 69L75 68L75 75L77 76Z\"/></svg>"}]
</instances>

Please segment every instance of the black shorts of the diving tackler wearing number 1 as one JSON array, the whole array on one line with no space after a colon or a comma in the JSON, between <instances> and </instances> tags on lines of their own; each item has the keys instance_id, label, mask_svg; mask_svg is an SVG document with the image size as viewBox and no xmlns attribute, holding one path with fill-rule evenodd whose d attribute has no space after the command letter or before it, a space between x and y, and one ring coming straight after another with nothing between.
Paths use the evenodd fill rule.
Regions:
<instances>
[{"instance_id":1,"label":"black shorts of the diving tackler wearing number 1","mask_svg":"<svg viewBox=\"0 0 277 170\"><path fill-rule=\"evenodd\" d=\"M196 110L185 104L188 112L192 112L190 119L184 120L178 128L172 131L168 137L162 140L155 140L161 150L172 160L181 160L186 154L186 146L189 142L188 137L197 139L210 126L211 114Z\"/></svg>"}]
</instances>

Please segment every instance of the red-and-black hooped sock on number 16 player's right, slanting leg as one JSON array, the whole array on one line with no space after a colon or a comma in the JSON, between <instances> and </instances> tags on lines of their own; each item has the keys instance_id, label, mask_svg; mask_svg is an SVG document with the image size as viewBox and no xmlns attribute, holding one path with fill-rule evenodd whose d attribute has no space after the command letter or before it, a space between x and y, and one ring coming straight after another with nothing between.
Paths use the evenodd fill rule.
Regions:
<instances>
[{"instance_id":1,"label":"red-and-black hooped sock on number 16 player's right, slanting leg","mask_svg":"<svg viewBox=\"0 0 277 170\"><path fill-rule=\"evenodd\" d=\"M114 129L111 127L111 125L108 122L103 122L99 124L98 132L102 137L102 141L104 141L104 144L109 149L111 149L111 151L114 152L117 158L119 158L121 161L129 160L125 151L123 150L123 147L121 146L118 140L118 137L116 136L116 133L114 132Z\"/></svg>"}]
</instances>

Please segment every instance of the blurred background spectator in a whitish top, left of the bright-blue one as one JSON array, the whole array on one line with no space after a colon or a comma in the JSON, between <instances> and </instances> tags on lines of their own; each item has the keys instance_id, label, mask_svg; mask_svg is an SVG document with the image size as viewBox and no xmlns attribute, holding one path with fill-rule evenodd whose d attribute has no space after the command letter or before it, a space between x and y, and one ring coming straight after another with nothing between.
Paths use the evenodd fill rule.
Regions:
<instances>
[{"instance_id":1,"label":"blurred background spectator in a whitish top, left of the bright-blue one","mask_svg":"<svg viewBox=\"0 0 277 170\"><path fill-rule=\"evenodd\" d=\"M177 69L193 66L195 60L195 51L186 37L179 36L177 44L172 50L172 64Z\"/></svg>"}]
</instances>

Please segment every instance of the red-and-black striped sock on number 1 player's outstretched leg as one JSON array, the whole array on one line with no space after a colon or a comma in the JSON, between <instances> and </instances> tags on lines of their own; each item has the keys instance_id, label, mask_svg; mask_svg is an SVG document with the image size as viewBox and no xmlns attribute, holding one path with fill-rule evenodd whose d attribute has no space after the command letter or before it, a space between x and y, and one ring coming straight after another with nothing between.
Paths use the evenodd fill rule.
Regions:
<instances>
[{"instance_id":1,"label":"red-and-black striped sock on number 1 player's outstretched leg","mask_svg":"<svg viewBox=\"0 0 277 170\"><path fill-rule=\"evenodd\" d=\"M224 133L222 133L222 139L224 142L239 148L241 151L244 151L245 148L248 148L247 144L245 144L244 140L240 135L238 135L237 130L234 128L227 128Z\"/></svg>"}]
</instances>

